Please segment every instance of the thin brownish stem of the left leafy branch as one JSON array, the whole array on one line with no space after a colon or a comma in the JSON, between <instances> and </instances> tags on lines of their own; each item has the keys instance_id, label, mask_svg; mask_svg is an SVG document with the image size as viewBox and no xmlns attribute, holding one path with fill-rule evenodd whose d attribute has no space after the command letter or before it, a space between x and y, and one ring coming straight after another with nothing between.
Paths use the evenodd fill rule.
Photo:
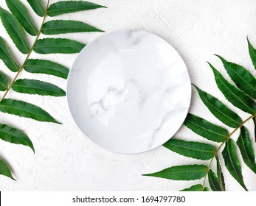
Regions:
<instances>
[{"instance_id":1,"label":"thin brownish stem of the left leafy branch","mask_svg":"<svg viewBox=\"0 0 256 206\"><path fill-rule=\"evenodd\" d=\"M2 96L0 102L3 101L4 98L7 96L7 93L10 91L10 88L13 87L13 84L14 84L14 82L16 81L16 79L18 78L18 75L21 74L21 71L23 70L25 63L26 63L27 60L30 58L30 54L32 53L32 51L33 51L33 49L34 49L34 47L35 47L35 43L37 42L38 38L39 38L40 35L41 35L42 27L43 27L43 25L44 25L44 22L46 21L47 10L48 10L48 7L49 7L49 1L50 1L50 0L47 0L46 10L44 11L44 18L43 18L43 21L42 21L42 23L41 23L40 29L38 30L38 34L37 34L36 37L35 37L35 41L34 41L34 43L32 44L29 53L27 53L26 59L24 60L24 62L23 62L23 64L21 65L21 67L18 69L17 74L15 75L15 77L14 77L13 80L12 80L12 82L10 83L10 86L9 86L9 87L7 88L7 90L5 91L4 96Z\"/></svg>"}]
</instances>

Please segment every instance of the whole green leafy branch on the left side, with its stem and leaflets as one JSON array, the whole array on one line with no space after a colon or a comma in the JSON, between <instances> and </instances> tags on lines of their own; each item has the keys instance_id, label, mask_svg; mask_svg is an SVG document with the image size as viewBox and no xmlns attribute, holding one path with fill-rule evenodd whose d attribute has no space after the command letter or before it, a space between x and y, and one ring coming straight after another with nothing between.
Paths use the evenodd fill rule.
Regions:
<instances>
[{"instance_id":1,"label":"whole green leafy branch on the left side, with its stem and leaflets","mask_svg":"<svg viewBox=\"0 0 256 206\"><path fill-rule=\"evenodd\" d=\"M15 72L15 78L11 79L0 71L0 90L3 95L0 96L0 112L11 115L32 118L36 121L46 121L60 124L49 113L41 107L28 102L16 99L6 99L7 93L14 90L18 93L37 94L41 96L65 96L63 89L49 82L43 82L35 79L19 79L19 74L23 69L33 74L47 74L66 79L69 74L69 68L64 65L49 61L35 60L30 58L33 51L38 54L72 54L80 52L86 46L83 43L71 39L63 38L44 38L41 39L41 33L44 35L58 35L75 32L103 32L89 24L73 20L51 20L49 16L60 15L64 13L74 13L83 10L94 10L104 7L87 1L58 1L49 5L46 0L46 7L41 0L27 0L32 10L38 16L42 17L41 25L35 25L30 15L30 10L24 6L21 0L6 0L5 3L10 11L0 7L1 22L8 35L15 43L15 46L21 53L27 54L24 63L18 65L15 57L8 49L7 43L0 36L0 60L4 62L10 71ZM29 35L35 36L34 42L28 43ZM42 58L43 59L43 58ZM21 132L21 129L10 125L0 123L0 138L2 141L29 146L34 151L34 146L30 138ZM9 166L0 160L0 174L10 177L14 180Z\"/></svg>"}]
</instances>

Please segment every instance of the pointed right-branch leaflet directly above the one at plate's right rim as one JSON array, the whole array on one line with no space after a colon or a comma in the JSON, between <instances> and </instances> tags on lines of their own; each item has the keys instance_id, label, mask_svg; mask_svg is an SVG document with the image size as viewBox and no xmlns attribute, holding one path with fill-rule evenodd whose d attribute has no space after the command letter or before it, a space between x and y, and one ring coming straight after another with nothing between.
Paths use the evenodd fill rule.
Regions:
<instances>
[{"instance_id":1,"label":"pointed right-branch leaflet directly above the one at plate's right rim","mask_svg":"<svg viewBox=\"0 0 256 206\"><path fill-rule=\"evenodd\" d=\"M222 77L221 73L217 71L210 63L210 67L215 75L215 81L218 85L218 88L224 94L227 100L231 102L235 107L243 110L246 113L254 114L256 111L256 103L243 93L243 91L239 90L235 86L231 85L224 77Z\"/></svg>"}]
</instances>

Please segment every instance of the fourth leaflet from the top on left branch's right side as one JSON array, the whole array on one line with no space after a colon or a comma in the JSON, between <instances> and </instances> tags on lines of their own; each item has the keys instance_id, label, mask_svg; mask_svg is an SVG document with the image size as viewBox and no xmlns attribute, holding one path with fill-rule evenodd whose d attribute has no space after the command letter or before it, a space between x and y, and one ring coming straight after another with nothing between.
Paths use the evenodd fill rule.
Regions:
<instances>
[{"instance_id":1,"label":"fourth leaflet from the top on left branch's right side","mask_svg":"<svg viewBox=\"0 0 256 206\"><path fill-rule=\"evenodd\" d=\"M69 74L68 68L48 60L27 60L24 64L24 70L30 73L50 74L64 79Z\"/></svg>"}]
</instances>

